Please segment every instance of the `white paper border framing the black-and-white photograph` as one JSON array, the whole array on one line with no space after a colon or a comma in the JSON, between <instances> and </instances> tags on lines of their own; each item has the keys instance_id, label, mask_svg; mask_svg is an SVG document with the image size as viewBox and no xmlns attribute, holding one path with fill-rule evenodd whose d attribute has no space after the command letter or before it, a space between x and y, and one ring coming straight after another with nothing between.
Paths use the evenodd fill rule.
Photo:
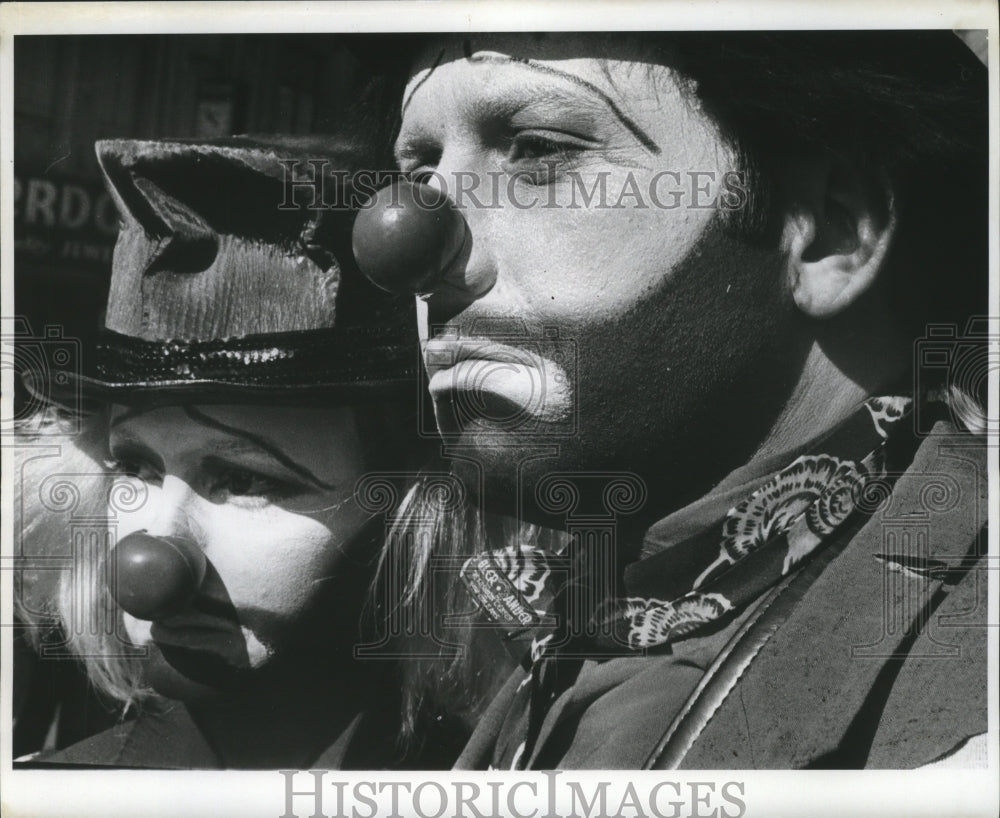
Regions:
<instances>
[{"instance_id":1,"label":"white paper border framing the black-and-white photograph","mask_svg":"<svg viewBox=\"0 0 1000 818\"><path fill-rule=\"evenodd\" d=\"M722 30L722 29L987 29L990 77L990 304L998 295L998 52L997 4L994 0L826 0L822 3L780 0L677 0L676 2L254 2L254 3L5 3L0 5L0 315L14 314L13 264L13 53L18 34L138 34L138 33L318 33L398 31L553 31L553 30ZM5 320L4 330L8 329ZM998 332L993 323L991 333ZM997 373L989 388L989 416L1000 417ZM12 414L12 369L3 369L4 416ZM991 440L989 486L991 521L1000 520L1000 493L996 476L998 450ZM2 555L12 553L10 528L12 474L9 448L3 450ZM665 772L607 773L609 780L634 781L649 787L659 781L742 781L748 816L819 815L933 815L993 816L1000 812L998 776L998 536L990 528L989 547L989 767L986 770L917 771L809 771L809 772ZM12 572L0 571L0 619L12 621ZM276 772L148 772L12 770L10 757L12 678L11 628L0 628L4 660L0 680L0 811L4 816L267 816L284 811L285 782ZM596 772L565 772L560 782L578 780L592 787ZM378 773L380 781L457 779L450 773ZM471 773L461 779L478 782L504 780L536 782L542 773ZM328 773L329 781L372 780L371 773ZM332 794L333 790L328 793ZM715 805L718 805L716 800ZM388 801L384 800L388 814ZM296 800L297 814L311 815L309 803ZM326 806L332 813L333 802ZM446 813L451 816L454 813ZM505 813L504 813L505 814ZM626 813L632 814L632 813ZM708 814L708 813L703 813ZM538 813L542 818L544 812ZM721 815L721 813L720 813ZM730 813L732 815L732 813Z\"/></svg>"}]
</instances>

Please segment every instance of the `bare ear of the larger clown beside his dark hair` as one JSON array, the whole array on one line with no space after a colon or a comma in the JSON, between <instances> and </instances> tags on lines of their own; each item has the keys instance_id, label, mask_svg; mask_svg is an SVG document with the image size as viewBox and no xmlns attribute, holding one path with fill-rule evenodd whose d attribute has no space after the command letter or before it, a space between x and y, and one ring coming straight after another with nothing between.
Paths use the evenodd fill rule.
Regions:
<instances>
[{"instance_id":1,"label":"bare ear of the larger clown beside his dark hair","mask_svg":"<svg viewBox=\"0 0 1000 818\"><path fill-rule=\"evenodd\" d=\"M871 288L896 228L888 180L830 158L790 163L782 249L798 308L830 318Z\"/></svg>"}]
</instances>

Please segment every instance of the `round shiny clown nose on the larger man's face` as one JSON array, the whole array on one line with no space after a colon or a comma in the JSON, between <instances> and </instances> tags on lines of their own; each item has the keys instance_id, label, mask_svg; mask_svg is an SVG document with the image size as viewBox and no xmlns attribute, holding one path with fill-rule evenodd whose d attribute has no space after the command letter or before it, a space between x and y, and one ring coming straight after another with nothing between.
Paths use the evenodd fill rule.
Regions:
<instances>
[{"instance_id":1,"label":"round shiny clown nose on the larger man's face","mask_svg":"<svg viewBox=\"0 0 1000 818\"><path fill-rule=\"evenodd\" d=\"M354 258L392 293L426 293L444 278L465 241L465 220L448 194L410 182L379 190L354 222Z\"/></svg>"}]
</instances>

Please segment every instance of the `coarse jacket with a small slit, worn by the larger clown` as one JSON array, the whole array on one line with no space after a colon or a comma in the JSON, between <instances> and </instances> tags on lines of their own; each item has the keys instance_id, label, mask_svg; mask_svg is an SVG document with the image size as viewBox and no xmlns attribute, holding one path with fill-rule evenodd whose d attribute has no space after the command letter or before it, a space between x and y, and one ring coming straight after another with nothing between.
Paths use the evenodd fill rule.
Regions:
<instances>
[{"instance_id":1,"label":"coarse jacket with a small slit, worn by the larger clown","mask_svg":"<svg viewBox=\"0 0 1000 818\"><path fill-rule=\"evenodd\" d=\"M725 628L580 663L524 766L912 768L985 733L986 476L983 438L939 423L863 524ZM525 675L460 768L511 758Z\"/></svg>"}]
</instances>

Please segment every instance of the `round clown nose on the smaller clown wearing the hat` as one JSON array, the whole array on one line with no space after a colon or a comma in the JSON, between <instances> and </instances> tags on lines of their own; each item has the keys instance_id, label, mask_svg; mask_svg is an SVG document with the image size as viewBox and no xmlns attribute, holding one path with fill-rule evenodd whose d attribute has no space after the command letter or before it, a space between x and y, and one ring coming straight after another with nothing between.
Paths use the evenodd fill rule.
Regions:
<instances>
[{"instance_id":1,"label":"round clown nose on the smaller clown wearing the hat","mask_svg":"<svg viewBox=\"0 0 1000 818\"><path fill-rule=\"evenodd\" d=\"M187 606L207 567L197 543L183 537L129 534L112 550L117 582L112 596L136 619L157 621Z\"/></svg>"}]
</instances>

